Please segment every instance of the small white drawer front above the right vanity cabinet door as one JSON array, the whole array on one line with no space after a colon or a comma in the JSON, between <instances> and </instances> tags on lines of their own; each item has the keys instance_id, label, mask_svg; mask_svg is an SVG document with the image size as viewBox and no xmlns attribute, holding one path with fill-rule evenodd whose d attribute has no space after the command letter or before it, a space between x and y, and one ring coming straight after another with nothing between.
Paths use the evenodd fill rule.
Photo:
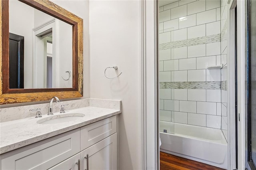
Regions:
<instances>
[{"instance_id":1,"label":"small white drawer front above the right vanity cabinet door","mask_svg":"<svg viewBox=\"0 0 256 170\"><path fill-rule=\"evenodd\" d=\"M104 119L81 128L81 150L92 146L116 132L116 116Z\"/></svg>"}]
</instances>

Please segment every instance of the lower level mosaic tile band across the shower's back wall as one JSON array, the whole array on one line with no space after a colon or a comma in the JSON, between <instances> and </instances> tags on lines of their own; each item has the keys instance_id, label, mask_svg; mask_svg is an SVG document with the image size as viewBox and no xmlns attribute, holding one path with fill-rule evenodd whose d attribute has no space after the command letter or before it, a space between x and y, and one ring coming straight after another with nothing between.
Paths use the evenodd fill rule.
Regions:
<instances>
[{"instance_id":1,"label":"lower level mosaic tile band across the shower's back wall","mask_svg":"<svg viewBox=\"0 0 256 170\"><path fill-rule=\"evenodd\" d=\"M221 81L160 82L160 89L221 89Z\"/></svg>"}]
</instances>

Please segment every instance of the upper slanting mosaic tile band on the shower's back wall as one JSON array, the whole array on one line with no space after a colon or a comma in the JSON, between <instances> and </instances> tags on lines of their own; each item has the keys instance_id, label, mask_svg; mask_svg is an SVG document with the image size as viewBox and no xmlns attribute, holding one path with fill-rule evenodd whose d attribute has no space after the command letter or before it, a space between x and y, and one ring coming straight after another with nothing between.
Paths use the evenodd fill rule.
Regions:
<instances>
[{"instance_id":1,"label":"upper slanting mosaic tile band on the shower's back wall","mask_svg":"<svg viewBox=\"0 0 256 170\"><path fill-rule=\"evenodd\" d=\"M199 38L191 38L188 40L181 40L176 42L161 43L159 44L159 50L187 47L192 45L200 45L200 44L214 43L214 42L220 42L220 34L199 37Z\"/></svg>"}]
</instances>

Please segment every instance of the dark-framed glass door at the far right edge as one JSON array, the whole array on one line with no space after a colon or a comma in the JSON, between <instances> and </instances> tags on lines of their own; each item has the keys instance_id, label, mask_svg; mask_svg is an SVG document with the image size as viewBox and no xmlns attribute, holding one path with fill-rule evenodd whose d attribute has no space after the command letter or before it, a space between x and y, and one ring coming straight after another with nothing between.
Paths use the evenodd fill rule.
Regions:
<instances>
[{"instance_id":1,"label":"dark-framed glass door at the far right edge","mask_svg":"<svg viewBox=\"0 0 256 170\"><path fill-rule=\"evenodd\" d=\"M256 170L256 1L248 1L248 117L246 168Z\"/></svg>"}]
</instances>

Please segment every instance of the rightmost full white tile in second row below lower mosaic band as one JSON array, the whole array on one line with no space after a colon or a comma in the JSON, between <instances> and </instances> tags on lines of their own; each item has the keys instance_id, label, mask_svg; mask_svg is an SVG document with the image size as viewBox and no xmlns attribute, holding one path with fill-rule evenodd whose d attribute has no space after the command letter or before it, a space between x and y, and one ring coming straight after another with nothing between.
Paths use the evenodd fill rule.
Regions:
<instances>
[{"instance_id":1,"label":"rightmost full white tile in second row below lower mosaic band","mask_svg":"<svg viewBox=\"0 0 256 170\"><path fill-rule=\"evenodd\" d=\"M206 115L216 115L216 103L213 102L196 102L197 113Z\"/></svg>"}]
</instances>

